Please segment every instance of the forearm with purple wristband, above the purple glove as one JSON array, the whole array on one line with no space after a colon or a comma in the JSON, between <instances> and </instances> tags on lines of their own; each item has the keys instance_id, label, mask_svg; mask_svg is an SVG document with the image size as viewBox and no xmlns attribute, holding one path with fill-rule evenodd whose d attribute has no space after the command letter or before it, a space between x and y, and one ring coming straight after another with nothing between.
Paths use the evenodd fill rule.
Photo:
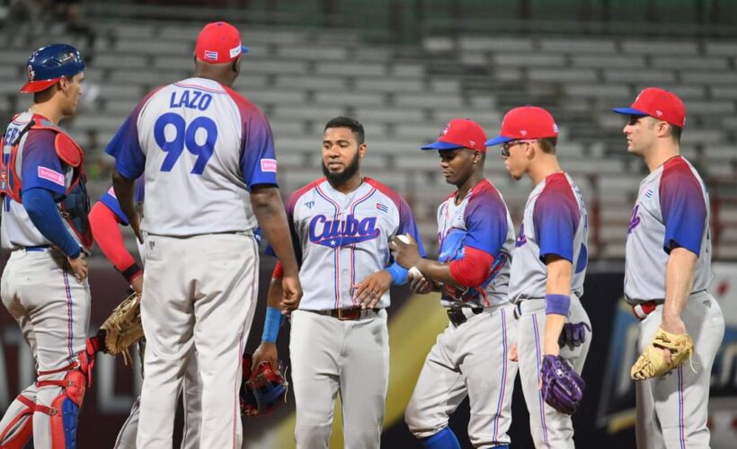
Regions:
<instances>
[{"instance_id":1,"label":"forearm with purple wristband, above the purple glove","mask_svg":"<svg viewBox=\"0 0 737 449\"><path fill-rule=\"evenodd\" d=\"M546 321L544 332L544 353L560 354L558 338L570 308L571 278L573 265L556 256L548 257L546 283Z\"/></svg>"}]
</instances>

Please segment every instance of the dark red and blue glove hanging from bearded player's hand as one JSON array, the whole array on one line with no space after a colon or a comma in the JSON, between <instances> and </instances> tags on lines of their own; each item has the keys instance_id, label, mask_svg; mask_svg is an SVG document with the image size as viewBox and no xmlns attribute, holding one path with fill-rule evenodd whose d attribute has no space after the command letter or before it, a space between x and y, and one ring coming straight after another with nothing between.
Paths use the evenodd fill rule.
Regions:
<instances>
[{"instance_id":1,"label":"dark red and blue glove hanging from bearded player's hand","mask_svg":"<svg viewBox=\"0 0 737 449\"><path fill-rule=\"evenodd\" d=\"M250 417L268 415L287 402L289 383L281 375L284 364L280 362L275 370L269 362L263 361L251 371L252 359L243 357L243 384L241 385L241 414Z\"/></svg>"}]
</instances>

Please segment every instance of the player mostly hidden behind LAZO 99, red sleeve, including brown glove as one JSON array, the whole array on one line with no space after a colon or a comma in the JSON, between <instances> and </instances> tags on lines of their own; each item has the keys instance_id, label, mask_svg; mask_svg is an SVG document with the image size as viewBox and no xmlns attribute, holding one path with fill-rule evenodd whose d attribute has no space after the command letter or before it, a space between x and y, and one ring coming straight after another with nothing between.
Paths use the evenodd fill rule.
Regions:
<instances>
[{"instance_id":1,"label":"player mostly hidden behind LAZO 99, red sleeve, including brown glove","mask_svg":"<svg viewBox=\"0 0 737 449\"><path fill-rule=\"evenodd\" d=\"M144 199L144 182L139 178L136 182L136 201L138 205ZM140 294L143 287L143 269L126 249L120 226L129 225L128 217L120 209L118 199L112 188L102 195L90 211L90 225L93 238L100 246L102 254L111 261L120 274L129 281L133 294L115 308L111 317L101 326L93 344L102 352L113 356L122 354L126 364L130 361L129 346L138 342L138 355L143 367L143 356L146 341L141 326ZM138 246L141 260L146 259L144 247ZM194 449L200 446L200 383L197 375L197 357L193 354L182 385L184 403L184 429L182 449ZM133 403L130 415L126 419L115 440L114 449L135 449L138 432L138 407L140 396Z\"/></svg>"}]
</instances>

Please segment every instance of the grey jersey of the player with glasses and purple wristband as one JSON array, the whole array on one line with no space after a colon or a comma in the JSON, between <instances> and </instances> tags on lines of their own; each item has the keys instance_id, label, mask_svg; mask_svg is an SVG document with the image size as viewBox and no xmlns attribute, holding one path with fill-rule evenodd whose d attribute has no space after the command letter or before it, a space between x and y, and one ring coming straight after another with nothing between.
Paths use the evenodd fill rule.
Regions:
<instances>
[{"instance_id":1,"label":"grey jersey of the player with glasses and purple wristband","mask_svg":"<svg viewBox=\"0 0 737 449\"><path fill-rule=\"evenodd\" d=\"M589 224L581 191L567 173L553 173L529 194L511 262L510 298L515 304L546 295L547 255L573 264L571 294L583 295Z\"/></svg>"}]
</instances>

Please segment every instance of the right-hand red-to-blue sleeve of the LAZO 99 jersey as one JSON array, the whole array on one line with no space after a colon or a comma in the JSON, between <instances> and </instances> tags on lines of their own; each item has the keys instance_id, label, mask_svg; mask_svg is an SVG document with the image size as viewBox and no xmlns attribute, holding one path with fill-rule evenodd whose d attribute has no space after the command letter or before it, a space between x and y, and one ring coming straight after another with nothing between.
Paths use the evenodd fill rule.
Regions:
<instances>
[{"instance_id":1,"label":"right-hand red-to-blue sleeve of the LAZO 99 jersey","mask_svg":"<svg viewBox=\"0 0 737 449\"><path fill-rule=\"evenodd\" d=\"M274 137L269 121L255 108L241 110L244 117L244 141L241 170L248 189L259 184L278 185Z\"/></svg>"}]
</instances>

